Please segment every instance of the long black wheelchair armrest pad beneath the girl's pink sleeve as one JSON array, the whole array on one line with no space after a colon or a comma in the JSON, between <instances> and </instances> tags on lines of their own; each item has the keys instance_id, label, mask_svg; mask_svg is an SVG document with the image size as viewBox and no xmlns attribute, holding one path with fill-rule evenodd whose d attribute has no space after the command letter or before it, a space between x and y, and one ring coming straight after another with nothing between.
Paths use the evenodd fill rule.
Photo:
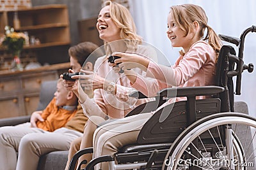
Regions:
<instances>
[{"instance_id":1,"label":"long black wheelchair armrest pad beneath the girl's pink sleeve","mask_svg":"<svg viewBox=\"0 0 256 170\"><path fill-rule=\"evenodd\" d=\"M189 96L208 96L212 94L219 94L223 92L223 87L218 86L204 86L204 87L173 87L163 89L159 92L161 97L189 97Z\"/></svg>"}]
</instances>

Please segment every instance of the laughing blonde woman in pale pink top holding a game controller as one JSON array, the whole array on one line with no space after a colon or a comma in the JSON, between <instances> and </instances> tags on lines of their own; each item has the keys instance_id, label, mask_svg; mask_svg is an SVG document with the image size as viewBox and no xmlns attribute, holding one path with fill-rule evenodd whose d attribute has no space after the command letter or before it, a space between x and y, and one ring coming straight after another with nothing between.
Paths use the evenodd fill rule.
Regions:
<instances>
[{"instance_id":1,"label":"laughing blonde woman in pale pink top holding a game controller","mask_svg":"<svg viewBox=\"0 0 256 170\"><path fill-rule=\"evenodd\" d=\"M152 59L156 60L155 50L150 46L141 45L142 39L136 34L136 27L129 10L118 3L107 1L99 12L97 29L100 39L104 40L106 55L96 60L94 73L82 69L81 72L85 73L84 75L72 76L72 78L79 78L79 81L66 82L69 86L77 86L77 89L82 86L84 89L92 88L93 90L92 100L81 88L79 89L79 103L89 117L84 127L80 149L92 147L93 132L97 125L109 119L124 118L136 106L152 100L127 97L127 94L134 90L131 88L129 78L116 73L113 67L109 66L108 57L113 52L140 53L152 56ZM138 68L129 72L131 75L145 76L145 72ZM75 153L71 150L70 152ZM79 159L79 163L84 159L90 161L92 155L84 155Z\"/></svg>"}]
</instances>

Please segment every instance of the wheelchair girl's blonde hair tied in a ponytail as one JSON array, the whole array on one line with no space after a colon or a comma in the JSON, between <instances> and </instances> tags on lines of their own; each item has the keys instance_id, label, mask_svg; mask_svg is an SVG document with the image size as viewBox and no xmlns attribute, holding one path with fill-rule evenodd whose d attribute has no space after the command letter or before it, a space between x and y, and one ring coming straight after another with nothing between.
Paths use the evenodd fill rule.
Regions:
<instances>
[{"instance_id":1,"label":"wheelchair girl's blonde hair tied in a ponytail","mask_svg":"<svg viewBox=\"0 0 256 170\"><path fill-rule=\"evenodd\" d=\"M193 22L197 21L200 25L200 37L203 40L208 40L209 45L212 46L214 51L220 52L222 46L220 37L216 32L207 24L208 18L202 7L195 4L181 4L177 6L172 6L170 14L177 25L182 29L186 35L188 35L189 30L193 27ZM207 29L207 34L204 38L204 32Z\"/></svg>"}]
</instances>

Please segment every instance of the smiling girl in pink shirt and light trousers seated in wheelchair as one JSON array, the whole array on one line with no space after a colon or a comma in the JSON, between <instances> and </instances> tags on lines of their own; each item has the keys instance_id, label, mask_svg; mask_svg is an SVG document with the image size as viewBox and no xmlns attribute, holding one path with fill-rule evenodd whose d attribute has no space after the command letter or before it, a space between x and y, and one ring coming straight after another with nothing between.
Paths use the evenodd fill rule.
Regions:
<instances>
[{"instance_id":1,"label":"smiling girl in pink shirt and light trousers seated in wheelchair","mask_svg":"<svg viewBox=\"0 0 256 170\"><path fill-rule=\"evenodd\" d=\"M156 95L159 89L154 89L150 79L132 74L134 67L139 67L147 76L157 79L160 90L166 87L196 87L214 85L216 60L220 52L221 41L213 29L207 25L205 11L195 4L172 6L168 15L167 36L173 47L182 47L180 56L172 67L156 64L147 57L134 53L113 53L121 57L115 60L117 71L120 68L131 81L132 87L147 96ZM204 32L207 31L206 36ZM153 80L155 81L155 80ZM175 101L183 99L177 98ZM167 104L168 100L157 110ZM113 155L122 146L136 143L136 139L143 124L154 114L143 113L102 125L94 133L94 157ZM97 165L97 169L109 169L108 163Z\"/></svg>"}]
</instances>

